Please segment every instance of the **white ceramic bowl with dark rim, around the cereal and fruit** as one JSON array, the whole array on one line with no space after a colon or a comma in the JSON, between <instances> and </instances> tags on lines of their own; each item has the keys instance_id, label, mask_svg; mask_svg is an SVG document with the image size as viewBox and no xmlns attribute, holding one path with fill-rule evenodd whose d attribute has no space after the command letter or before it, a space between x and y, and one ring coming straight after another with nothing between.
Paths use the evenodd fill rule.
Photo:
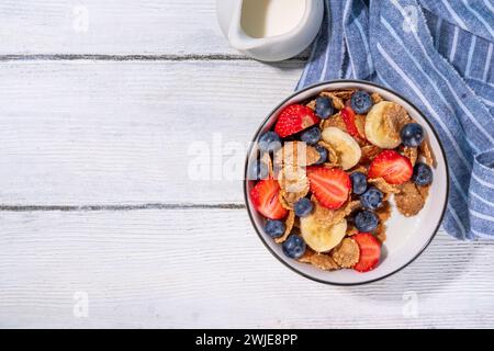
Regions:
<instances>
[{"instance_id":1,"label":"white ceramic bowl with dark rim, around the cereal and fruit","mask_svg":"<svg viewBox=\"0 0 494 351\"><path fill-rule=\"evenodd\" d=\"M390 91L386 88L382 88L367 81L328 81L295 92L278 105L278 107L276 107L274 111L265 120L257 131L254 141L257 141L262 133L271 129L279 112L284 106L307 100L323 90L337 90L346 88L357 88L369 92L378 92L385 100L394 101L404 106L408 114L425 128L426 137L429 140L436 161L436 165L433 168L434 182L430 188L430 193L427 197L425 207L418 213L418 215L414 217L405 217L396 211L394 204L392 203L393 212L391 218L386 222L386 240L382 247L382 257L379 265L374 270L367 273L359 273L353 270L323 271L311 264L300 263L285 257L281 250L281 245L276 244L267 234L265 234L262 229L265 219L252 207L248 194L255 182L246 180L244 182L244 192L247 211L259 238L263 241L271 253L274 254L274 257L277 257L282 263L293 271L317 282L336 285L358 285L374 282L396 273L412 263L412 261L414 261L425 250L438 230L446 211L449 177L442 146L431 124L426 120L426 117L403 97ZM252 143L252 146L247 155L245 179L247 179L249 162L256 158L258 152L256 145L256 143Z\"/></svg>"}]
</instances>

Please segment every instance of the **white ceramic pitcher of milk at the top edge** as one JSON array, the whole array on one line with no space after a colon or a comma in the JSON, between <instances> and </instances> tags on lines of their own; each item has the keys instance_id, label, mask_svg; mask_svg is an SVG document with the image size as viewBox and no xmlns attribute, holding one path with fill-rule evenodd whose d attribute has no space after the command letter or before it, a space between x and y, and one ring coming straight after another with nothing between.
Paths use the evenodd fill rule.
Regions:
<instances>
[{"instance_id":1,"label":"white ceramic pitcher of milk at the top edge","mask_svg":"<svg viewBox=\"0 0 494 351\"><path fill-rule=\"evenodd\" d=\"M247 3L246 1L257 1L257 3ZM277 10L282 10L276 19L276 23L251 23L250 32L257 31L260 35L249 35L245 30L246 21L249 21L246 5L257 5L259 10L254 16L261 16L261 11L268 11L270 1L283 0L216 0L216 14L223 34L227 37L231 45L237 50L263 61L278 61L293 57L304 50L317 35L324 14L323 0L292 0L279 2ZM299 2L300 1L300 2ZM296 8L287 8L296 4ZM284 7L284 8L283 8ZM300 9L303 9L300 11ZM249 10L252 14L252 9ZM297 13L297 11L303 13ZM290 23L293 16L300 19L297 23ZM266 16L266 21L270 18ZM287 19L287 20L285 20ZM254 21L254 19L252 19ZM273 18L271 16L271 21ZM292 25L290 27L290 25ZM274 29L274 34L262 35L258 27ZM280 32L277 33L277 27ZM287 30L288 29L288 30Z\"/></svg>"}]
</instances>

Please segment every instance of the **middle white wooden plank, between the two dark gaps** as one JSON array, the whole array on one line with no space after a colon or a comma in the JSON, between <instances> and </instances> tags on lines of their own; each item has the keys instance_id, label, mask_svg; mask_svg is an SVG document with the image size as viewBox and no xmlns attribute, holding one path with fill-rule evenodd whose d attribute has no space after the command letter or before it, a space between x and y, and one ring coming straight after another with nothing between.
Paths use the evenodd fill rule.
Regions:
<instances>
[{"instance_id":1,"label":"middle white wooden plank, between the two dark gaps","mask_svg":"<svg viewBox=\"0 0 494 351\"><path fill-rule=\"evenodd\" d=\"M242 203L248 141L292 91L303 66L231 60L1 65L2 205ZM236 154L235 147L240 148ZM210 178L197 180L191 161L205 159L198 154L207 148L215 155L203 168ZM228 160L238 166L234 180L217 176Z\"/></svg>"}]
</instances>

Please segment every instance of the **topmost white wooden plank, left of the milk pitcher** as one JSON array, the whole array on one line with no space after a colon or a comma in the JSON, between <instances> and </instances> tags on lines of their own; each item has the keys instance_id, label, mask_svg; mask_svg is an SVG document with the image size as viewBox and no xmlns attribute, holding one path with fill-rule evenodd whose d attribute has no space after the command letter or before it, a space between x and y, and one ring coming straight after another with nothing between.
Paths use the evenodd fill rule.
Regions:
<instances>
[{"instance_id":1,"label":"topmost white wooden plank, left of the milk pitcher","mask_svg":"<svg viewBox=\"0 0 494 351\"><path fill-rule=\"evenodd\" d=\"M214 0L3 0L0 55L234 55Z\"/></svg>"}]
</instances>

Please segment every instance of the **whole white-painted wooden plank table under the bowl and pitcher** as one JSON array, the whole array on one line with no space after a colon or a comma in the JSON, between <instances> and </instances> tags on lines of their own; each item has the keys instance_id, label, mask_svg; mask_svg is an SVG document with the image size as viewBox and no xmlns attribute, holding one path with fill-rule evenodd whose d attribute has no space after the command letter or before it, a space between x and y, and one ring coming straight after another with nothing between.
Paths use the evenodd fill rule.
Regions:
<instances>
[{"instance_id":1,"label":"whole white-painted wooden plank table under the bowl and pitcher","mask_svg":"<svg viewBox=\"0 0 494 351\"><path fill-rule=\"evenodd\" d=\"M190 143L246 144L303 65L232 50L213 0L2 0L0 327L494 327L494 242L327 286L240 181L190 180Z\"/></svg>"}]
</instances>

